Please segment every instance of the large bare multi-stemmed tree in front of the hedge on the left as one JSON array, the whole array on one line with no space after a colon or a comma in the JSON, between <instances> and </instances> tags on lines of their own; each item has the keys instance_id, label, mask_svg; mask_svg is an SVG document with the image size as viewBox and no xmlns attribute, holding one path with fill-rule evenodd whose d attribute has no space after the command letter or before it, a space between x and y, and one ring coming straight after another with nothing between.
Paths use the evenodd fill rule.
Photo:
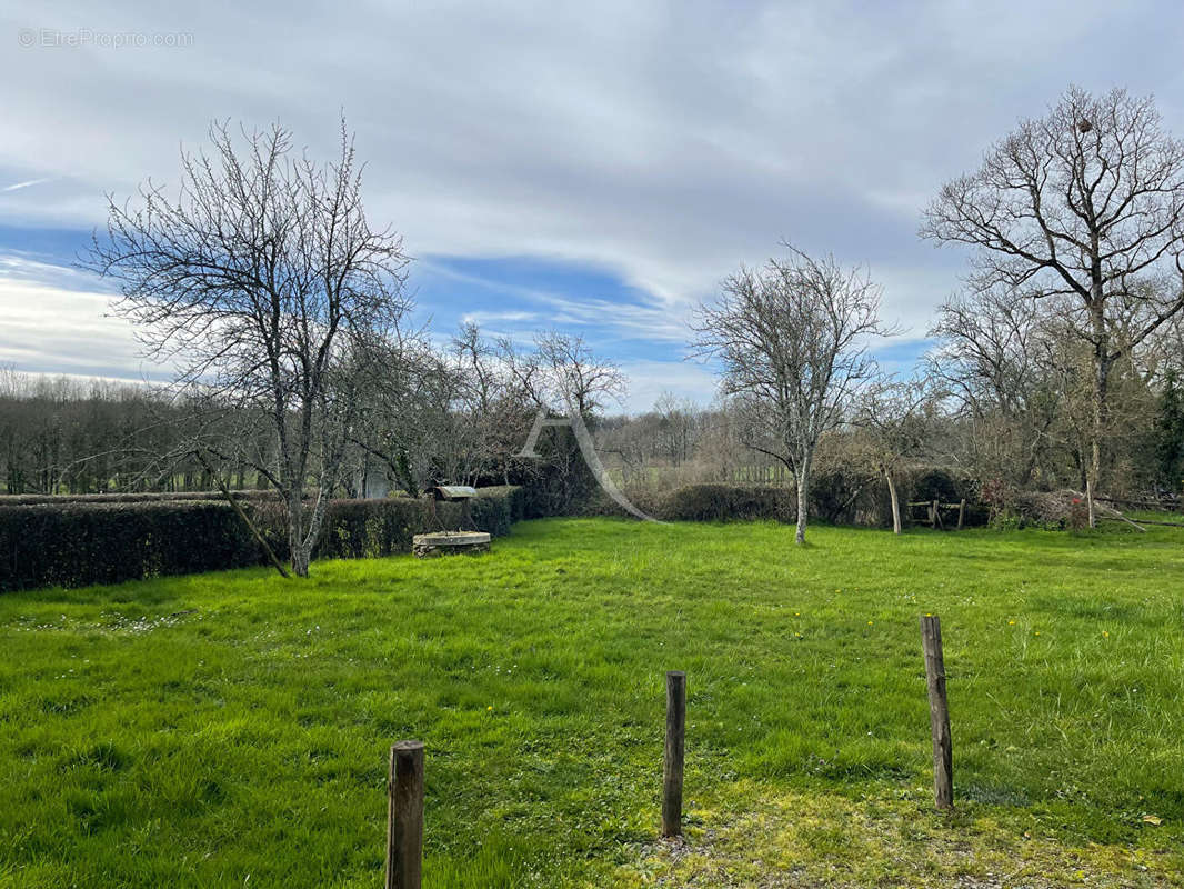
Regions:
<instances>
[{"instance_id":1,"label":"large bare multi-stemmed tree in front of the hedge on the left","mask_svg":"<svg viewBox=\"0 0 1184 889\"><path fill-rule=\"evenodd\" d=\"M279 126L210 132L210 154L184 153L175 199L146 183L140 206L109 198L107 237L84 264L115 279L117 311L146 353L176 369L243 422L264 422L274 456L243 454L238 435L198 442L244 459L282 493L292 570L308 574L347 431L358 372L408 308L407 257L392 231L369 228L361 168L341 128L340 155L318 165Z\"/></svg>"}]
</instances>

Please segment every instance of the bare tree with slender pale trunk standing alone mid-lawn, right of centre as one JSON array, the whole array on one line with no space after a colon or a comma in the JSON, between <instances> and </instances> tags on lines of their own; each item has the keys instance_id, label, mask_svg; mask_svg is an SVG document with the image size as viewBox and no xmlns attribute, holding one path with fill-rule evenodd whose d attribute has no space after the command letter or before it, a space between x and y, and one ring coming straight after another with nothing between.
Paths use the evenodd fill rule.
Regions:
<instances>
[{"instance_id":1,"label":"bare tree with slender pale trunk standing alone mid-lawn, right of centre","mask_svg":"<svg viewBox=\"0 0 1184 889\"><path fill-rule=\"evenodd\" d=\"M742 268L715 305L700 306L693 347L722 363L722 394L753 403L774 430L776 456L797 482L796 539L804 543L818 440L875 373L869 339L889 331L880 287L864 270L785 247L786 258Z\"/></svg>"}]
</instances>

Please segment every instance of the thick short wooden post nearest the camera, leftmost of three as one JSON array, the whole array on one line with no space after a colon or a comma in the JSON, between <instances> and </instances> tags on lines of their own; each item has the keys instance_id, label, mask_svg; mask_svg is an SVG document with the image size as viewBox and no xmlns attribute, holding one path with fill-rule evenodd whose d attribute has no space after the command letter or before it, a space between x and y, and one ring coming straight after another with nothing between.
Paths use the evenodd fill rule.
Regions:
<instances>
[{"instance_id":1,"label":"thick short wooden post nearest the camera, leftmost of three","mask_svg":"<svg viewBox=\"0 0 1184 889\"><path fill-rule=\"evenodd\" d=\"M420 889L424 859L424 742L391 748L386 889Z\"/></svg>"}]
</instances>

